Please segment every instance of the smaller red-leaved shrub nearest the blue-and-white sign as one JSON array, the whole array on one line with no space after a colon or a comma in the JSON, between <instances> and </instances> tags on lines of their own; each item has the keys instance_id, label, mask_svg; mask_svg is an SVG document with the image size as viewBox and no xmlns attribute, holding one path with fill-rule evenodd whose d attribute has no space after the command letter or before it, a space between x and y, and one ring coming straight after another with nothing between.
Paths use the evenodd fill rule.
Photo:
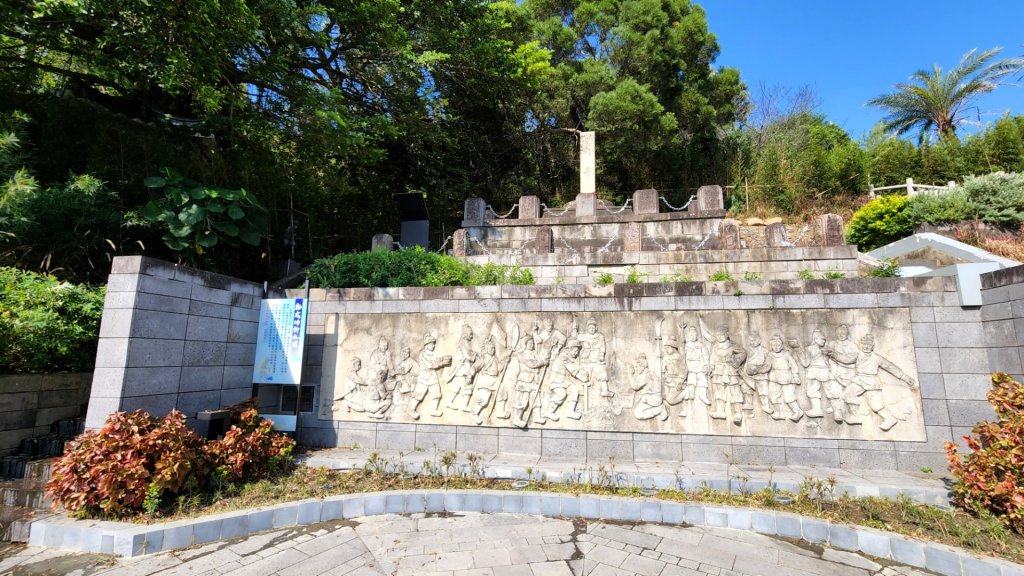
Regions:
<instances>
[{"instance_id":1,"label":"smaller red-leaved shrub nearest the blue-and-white sign","mask_svg":"<svg viewBox=\"0 0 1024 576\"><path fill-rule=\"evenodd\" d=\"M295 441L273 433L273 423L260 418L254 408L244 411L238 425L207 450L213 465L229 482L266 478L292 464Z\"/></svg>"}]
</instances>

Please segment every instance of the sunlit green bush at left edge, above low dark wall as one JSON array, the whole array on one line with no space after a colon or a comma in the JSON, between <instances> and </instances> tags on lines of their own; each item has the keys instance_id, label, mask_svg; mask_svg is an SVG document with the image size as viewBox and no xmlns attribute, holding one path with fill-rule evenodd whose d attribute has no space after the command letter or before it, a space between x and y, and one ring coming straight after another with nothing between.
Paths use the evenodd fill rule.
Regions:
<instances>
[{"instance_id":1,"label":"sunlit green bush at left edge, above low dark wall","mask_svg":"<svg viewBox=\"0 0 1024 576\"><path fill-rule=\"evenodd\" d=\"M92 370L103 289L0 266L0 373Z\"/></svg>"}]
</instances>

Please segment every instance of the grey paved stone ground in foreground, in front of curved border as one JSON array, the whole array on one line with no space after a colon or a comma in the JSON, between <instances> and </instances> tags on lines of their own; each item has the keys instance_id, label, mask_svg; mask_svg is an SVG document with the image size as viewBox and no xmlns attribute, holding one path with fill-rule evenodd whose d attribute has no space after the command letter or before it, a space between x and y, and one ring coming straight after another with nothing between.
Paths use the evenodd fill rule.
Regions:
<instances>
[{"instance_id":1,"label":"grey paved stone ground in foreground, in front of curved border","mask_svg":"<svg viewBox=\"0 0 1024 576\"><path fill-rule=\"evenodd\" d=\"M722 528L526 515L379 516L124 560L0 549L10 576L925 576L827 547Z\"/></svg>"}]
</instances>

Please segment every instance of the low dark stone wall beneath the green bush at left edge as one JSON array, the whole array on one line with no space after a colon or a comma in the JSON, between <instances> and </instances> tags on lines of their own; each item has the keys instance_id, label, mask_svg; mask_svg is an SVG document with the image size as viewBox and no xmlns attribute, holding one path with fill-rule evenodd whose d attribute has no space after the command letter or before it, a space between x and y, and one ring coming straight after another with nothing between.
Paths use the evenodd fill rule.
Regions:
<instances>
[{"instance_id":1,"label":"low dark stone wall beneath the green bush at left edge","mask_svg":"<svg viewBox=\"0 0 1024 576\"><path fill-rule=\"evenodd\" d=\"M84 414L91 381L91 373L0 376L0 454L49 434L57 420Z\"/></svg>"}]
</instances>

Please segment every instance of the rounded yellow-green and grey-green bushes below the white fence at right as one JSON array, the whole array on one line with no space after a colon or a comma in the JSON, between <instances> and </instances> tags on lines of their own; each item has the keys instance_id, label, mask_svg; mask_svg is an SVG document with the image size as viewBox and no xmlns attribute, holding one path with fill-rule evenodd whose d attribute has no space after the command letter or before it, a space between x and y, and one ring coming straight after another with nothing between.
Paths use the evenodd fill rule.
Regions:
<instances>
[{"instance_id":1,"label":"rounded yellow-green and grey-green bushes below the white fence at right","mask_svg":"<svg viewBox=\"0 0 1024 576\"><path fill-rule=\"evenodd\" d=\"M913 233L921 223L978 220L1017 233L1024 225L1024 173L968 177L963 186L937 195L912 198L883 196L858 210L847 227L846 240L872 250Z\"/></svg>"}]
</instances>

